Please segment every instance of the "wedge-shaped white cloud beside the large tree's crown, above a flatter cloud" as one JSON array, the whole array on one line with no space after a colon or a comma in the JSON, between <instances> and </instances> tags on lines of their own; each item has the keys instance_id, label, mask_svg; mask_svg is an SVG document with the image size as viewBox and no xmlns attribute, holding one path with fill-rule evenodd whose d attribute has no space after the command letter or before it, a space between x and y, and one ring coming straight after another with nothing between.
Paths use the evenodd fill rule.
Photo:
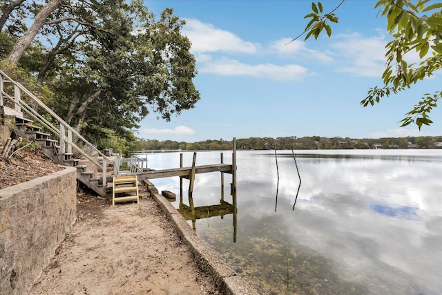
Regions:
<instances>
[{"instance_id":1,"label":"wedge-shaped white cloud beside the large tree's crown, above a flatter cloud","mask_svg":"<svg viewBox=\"0 0 442 295\"><path fill-rule=\"evenodd\" d=\"M248 41L243 41L232 32L215 28L210 23L202 23L197 19L186 19L186 25L182 29L192 43L193 53L242 53L255 55L258 46Z\"/></svg>"}]
</instances>

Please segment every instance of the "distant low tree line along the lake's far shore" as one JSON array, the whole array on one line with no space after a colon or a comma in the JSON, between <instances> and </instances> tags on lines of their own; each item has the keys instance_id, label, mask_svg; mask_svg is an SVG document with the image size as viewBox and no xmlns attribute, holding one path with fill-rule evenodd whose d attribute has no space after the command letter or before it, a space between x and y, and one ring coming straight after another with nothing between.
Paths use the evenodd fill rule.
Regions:
<instances>
[{"instance_id":1,"label":"distant low tree line along the lake's far shore","mask_svg":"<svg viewBox=\"0 0 442 295\"><path fill-rule=\"evenodd\" d=\"M384 137L378 139L352 139L349 137L249 137L236 140L238 150L271 149L442 149L442 136ZM131 142L130 151L220 151L233 149L232 140L204 140L202 142L176 142L173 140L138 139Z\"/></svg>"}]
</instances>

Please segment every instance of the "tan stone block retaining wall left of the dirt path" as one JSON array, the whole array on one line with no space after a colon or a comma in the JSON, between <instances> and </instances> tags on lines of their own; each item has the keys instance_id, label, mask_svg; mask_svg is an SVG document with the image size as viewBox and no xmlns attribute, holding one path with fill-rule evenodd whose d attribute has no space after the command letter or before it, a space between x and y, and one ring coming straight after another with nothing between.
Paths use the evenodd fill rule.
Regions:
<instances>
[{"instance_id":1,"label":"tan stone block retaining wall left of the dirt path","mask_svg":"<svg viewBox=\"0 0 442 295\"><path fill-rule=\"evenodd\" d=\"M73 167L0 190L0 294L27 294L75 222Z\"/></svg>"}]
</instances>

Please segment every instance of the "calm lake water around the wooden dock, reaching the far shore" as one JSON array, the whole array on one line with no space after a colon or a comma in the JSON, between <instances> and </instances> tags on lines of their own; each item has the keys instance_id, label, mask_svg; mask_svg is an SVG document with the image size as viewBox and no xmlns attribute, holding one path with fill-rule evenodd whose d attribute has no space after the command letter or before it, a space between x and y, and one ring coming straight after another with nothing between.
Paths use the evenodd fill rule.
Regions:
<instances>
[{"instance_id":1,"label":"calm lake water around the wooden dock, reaching the far shore","mask_svg":"<svg viewBox=\"0 0 442 295\"><path fill-rule=\"evenodd\" d=\"M278 171L274 151L237 152L236 213L220 202L233 204L231 175L222 193L220 173L197 174L187 216L261 294L442 294L442 150L295 151L301 183L291 151L277 153ZM146 155L180 166L180 153ZM180 196L179 178L152 182ZM189 213L183 183L173 205Z\"/></svg>"}]
</instances>

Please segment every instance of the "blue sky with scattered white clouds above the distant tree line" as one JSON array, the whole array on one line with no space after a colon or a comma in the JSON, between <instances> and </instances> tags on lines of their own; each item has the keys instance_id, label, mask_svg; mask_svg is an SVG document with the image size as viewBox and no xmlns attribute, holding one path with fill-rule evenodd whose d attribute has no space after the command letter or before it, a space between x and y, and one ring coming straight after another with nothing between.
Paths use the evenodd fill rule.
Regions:
<instances>
[{"instance_id":1,"label":"blue sky with scattered white clouds above the distant tree line","mask_svg":"<svg viewBox=\"0 0 442 295\"><path fill-rule=\"evenodd\" d=\"M329 12L339 1L322 1ZM137 136L197 142L233 137L405 137L442 135L442 108L432 126L399 128L398 121L425 93L442 89L442 70L375 106L359 102L382 86L385 44L391 38L376 1L347 0L333 35L303 37L311 1L147 1L155 15L166 7L186 20L201 99L195 108L157 120L150 113ZM417 60L410 55L407 61Z\"/></svg>"}]
</instances>

